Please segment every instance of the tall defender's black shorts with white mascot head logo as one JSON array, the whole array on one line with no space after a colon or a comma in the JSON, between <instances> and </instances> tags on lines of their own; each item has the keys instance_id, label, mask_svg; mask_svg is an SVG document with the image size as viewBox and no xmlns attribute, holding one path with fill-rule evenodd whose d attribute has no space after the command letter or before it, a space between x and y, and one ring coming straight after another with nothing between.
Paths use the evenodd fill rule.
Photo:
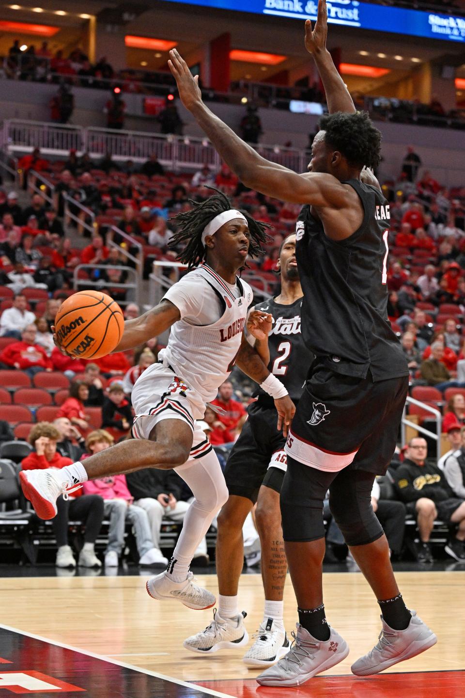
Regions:
<instances>
[{"instance_id":1,"label":"tall defender's black shorts with white mascot head logo","mask_svg":"<svg viewBox=\"0 0 465 698\"><path fill-rule=\"evenodd\" d=\"M394 454L409 378L373 383L314 362L289 431L286 453L326 472L384 475Z\"/></svg>"}]
</instances>

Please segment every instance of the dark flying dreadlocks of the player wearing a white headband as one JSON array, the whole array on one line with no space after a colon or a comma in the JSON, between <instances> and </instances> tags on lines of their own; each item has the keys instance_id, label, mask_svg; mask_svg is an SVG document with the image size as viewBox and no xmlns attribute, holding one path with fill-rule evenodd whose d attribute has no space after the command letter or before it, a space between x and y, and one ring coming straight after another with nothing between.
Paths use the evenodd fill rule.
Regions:
<instances>
[{"instance_id":1,"label":"dark flying dreadlocks of the player wearing a white headband","mask_svg":"<svg viewBox=\"0 0 465 698\"><path fill-rule=\"evenodd\" d=\"M169 246L176 247L178 244L185 243L185 248L178 254L176 259L187 265L188 269L197 267L200 262L206 259L208 248L204 247L201 242L201 236L206 225L213 221L213 218L218 216L218 214L234 208L229 198L222 191L213 186L208 186L207 188L215 193L201 202L189 199L192 209L190 211L181 211L174 218L169 219L170 221L175 221L176 225L179 226L179 230L171 237ZM263 245L271 240L266 233L266 229L272 226L268 223L263 223L263 221L255 221L246 211L241 211L241 214L243 214L249 227L249 254L251 257L257 257L257 255L264 253ZM244 266L248 267L247 262L245 262Z\"/></svg>"}]
</instances>

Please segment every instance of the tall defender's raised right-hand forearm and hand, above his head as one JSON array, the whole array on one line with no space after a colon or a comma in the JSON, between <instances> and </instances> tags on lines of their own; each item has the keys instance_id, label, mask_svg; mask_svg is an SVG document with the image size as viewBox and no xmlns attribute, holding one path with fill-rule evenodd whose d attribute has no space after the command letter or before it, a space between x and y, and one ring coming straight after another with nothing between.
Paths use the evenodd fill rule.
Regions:
<instances>
[{"instance_id":1,"label":"tall defender's raised right-hand forearm and hand, above his head","mask_svg":"<svg viewBox=\"0 0 465 698\"><path fill-rule=\"evenodd\" d=\"M344 80L337 72L330 52L326 48L328 36L328 10L326 0L319 0L317 22L312 31L312 22L305 22L305 48L312 55L317 64L318 72L326 92L326 102L330 114L345 112L355 114L356 107L344 84Z\"/></svg>"}]
</instances>

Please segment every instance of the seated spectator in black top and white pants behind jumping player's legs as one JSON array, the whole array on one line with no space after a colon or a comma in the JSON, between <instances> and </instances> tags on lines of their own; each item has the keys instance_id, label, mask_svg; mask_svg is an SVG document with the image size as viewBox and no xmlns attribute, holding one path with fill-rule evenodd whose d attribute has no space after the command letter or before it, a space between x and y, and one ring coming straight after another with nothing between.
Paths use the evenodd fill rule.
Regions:
<instances>
[{"instance_id":1,"label":"seated spectator in black top and white pants behind jumping player's legs","mask_svg":"<svg viewBox=\"0 0 465 698\"><path fill-rule=\"evenodd\" d=\"M128 473L127 482L135 504L147 512L153 545L160 553L162 520L182 523L189 508L189 503L182 500L183 482L174 470L157 468L144 468ZM192 564L208 565L208 562L204 538L194 553Z\"/></svg>"}]
</instances>

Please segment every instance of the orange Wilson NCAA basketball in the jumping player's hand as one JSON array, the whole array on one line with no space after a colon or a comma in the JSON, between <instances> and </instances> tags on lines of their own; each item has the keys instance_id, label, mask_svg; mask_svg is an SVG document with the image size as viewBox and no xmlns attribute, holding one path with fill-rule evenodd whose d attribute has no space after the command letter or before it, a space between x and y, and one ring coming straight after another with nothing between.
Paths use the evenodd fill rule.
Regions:
<instances>
[{"instance_id":1,"label":"orange Wilson NCAA basketball in the jumping player's hand","mask_svg":"<svg viewBox=\"0 0 465 698\"><path fill-rule=\"evenodd\" d=\"M56 313L59 344L79 359L98 359L112 352L123 329L123 311L101 291L78 291L63 301Z\"/></svg>"}]
</instances>

